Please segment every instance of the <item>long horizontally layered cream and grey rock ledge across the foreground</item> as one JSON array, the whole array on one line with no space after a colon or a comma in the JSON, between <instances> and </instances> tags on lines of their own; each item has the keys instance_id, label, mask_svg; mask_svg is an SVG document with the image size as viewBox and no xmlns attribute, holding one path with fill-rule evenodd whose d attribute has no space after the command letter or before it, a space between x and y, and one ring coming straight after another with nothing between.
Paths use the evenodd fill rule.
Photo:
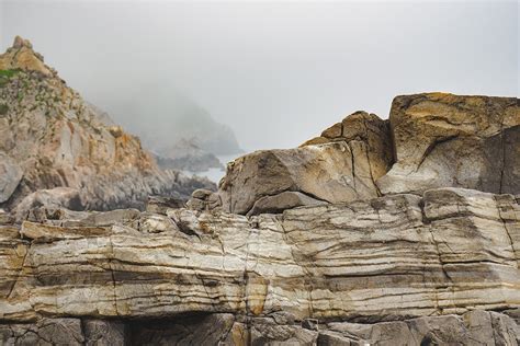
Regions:
<instances>
[{"instance_id":1,"label":"long horizontally layered cream and grey rock ledge across the foreground","mask_svg":"<svg viewBox=\"0 0 520 346\"><path fill-rule=\"evenodd\" d=\"M188 209L47 210L20 229L2 227L0 319L12 330L42 318L129 323L231 313L229 325L244 325L236 333L255 338L267 337L255 336L255 323L274 323L280 313L296 324L335 325L518 309L519 215L511 195L461 188L250 218ZM501 337L518 335L513 320L482 313L508 325ZM429 319L420 321L441 321ZM470 318L442 319L472 330ZM382 325L357 333L372 335L368 328ZM344 334L330 331L330 337ZM309 343L319 333L310 334Z\"/></svg>"}]
</instances>

